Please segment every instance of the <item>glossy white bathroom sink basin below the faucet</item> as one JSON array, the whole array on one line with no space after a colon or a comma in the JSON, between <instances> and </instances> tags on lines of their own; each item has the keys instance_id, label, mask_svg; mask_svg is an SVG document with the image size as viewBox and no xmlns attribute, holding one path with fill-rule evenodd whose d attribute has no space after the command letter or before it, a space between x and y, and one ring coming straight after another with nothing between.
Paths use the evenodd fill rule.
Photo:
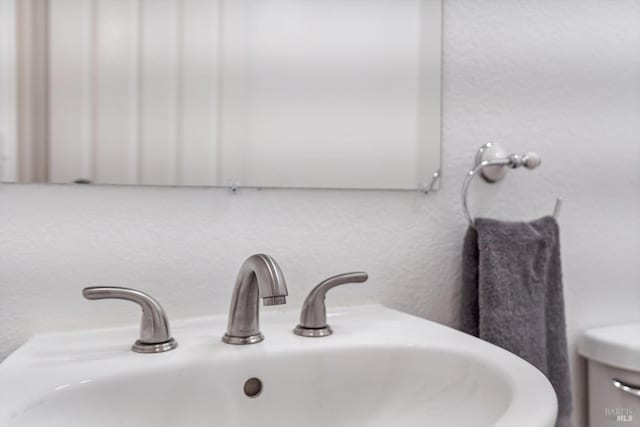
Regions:
<instances>
[{"instance_id":1,"label":"glossy white bathroom sink basin below the faucet","mask_svg":"<svg viewBox=\"0 0 640 427\"><path fill-rule=\"evenodd\" d=\"M549 382L498 347L381 306L305 338L298 314L264 309L245 346L226 316L174 322L161 354L130 350L135 327L36 336L0 364L0 427L554 425Z\"/></svg>"}]
</instances>

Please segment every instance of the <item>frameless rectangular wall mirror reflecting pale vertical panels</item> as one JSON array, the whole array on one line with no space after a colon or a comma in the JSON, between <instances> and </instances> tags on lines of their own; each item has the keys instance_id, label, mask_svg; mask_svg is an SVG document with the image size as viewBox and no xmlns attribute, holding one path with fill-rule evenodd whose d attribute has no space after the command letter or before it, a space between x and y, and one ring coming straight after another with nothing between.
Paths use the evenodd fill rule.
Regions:
<instances>
[{"instance_id":1,"label":"frameless rectangular wall mirror reflecting pale vertical panels","mask_svg":"<svg viewBox=\"0 0 640 427\"><path fill-rule=\"evenodd\" d=\"M412 189L441 0L3 0L5 182Z\"/></svg>"}]
</instances>

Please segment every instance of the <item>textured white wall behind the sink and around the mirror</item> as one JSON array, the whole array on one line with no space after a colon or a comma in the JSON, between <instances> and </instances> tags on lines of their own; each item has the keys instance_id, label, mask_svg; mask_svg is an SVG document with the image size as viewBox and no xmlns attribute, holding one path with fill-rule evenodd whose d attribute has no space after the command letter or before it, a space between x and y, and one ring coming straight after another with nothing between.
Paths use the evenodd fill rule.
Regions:
<instances>
[{"instance_id":1,"label":"textured white wall behind the sink and around the mirror","mask_svg":"<svg viewBox=\"0 0 640 427\"><path fill-rule=\"evenodd\" d=\"M140 287L172 318L224 313L244 258L272 254L299 307L348 270L330 304L381 301L456 325L466 227L459 190L488 140L543 166L472 188L475 213L560 218L576 427L584 328L640 320L640 1L445 1L443 182L411 192L0 187L0 358L31 334L138 321L87 284ZM222 332L222 331L220 331Z\"/></svg>"}]
</instances>

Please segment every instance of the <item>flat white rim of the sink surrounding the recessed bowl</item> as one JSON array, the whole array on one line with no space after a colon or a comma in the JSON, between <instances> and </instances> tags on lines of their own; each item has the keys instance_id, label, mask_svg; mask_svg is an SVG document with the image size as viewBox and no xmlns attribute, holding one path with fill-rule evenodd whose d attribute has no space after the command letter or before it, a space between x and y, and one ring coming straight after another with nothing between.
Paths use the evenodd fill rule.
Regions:
<instances>
[{"instance_id":1,"label":"flat white rim of the sink surrounding the recessed bowl","mask_svg":"<svg viewBox=\"0 0 640 427\"><path fill-rule=\"evenodd\" d=\"M504 374L511 387L511 403L494 427L552 427L557 401L546 377L523 359L475 337L447 326L392 310L381 305L352 306L333 309L329 323L335 333L329 338L305 338L292 333L297 310L262 310L262 330L266 339L250 346L231 346L221 342L226 316L189 318L174 322L173 335L180 342L175 351L141 355L130 351L131 336L137 327L64 332L37 335L0 363L0 426L10 420L9 408L20 409L38 396L51 392L61 383L93 378L107 378L140 369L164 369L182 366L202 357L304 349L380 346L383 342L400 347L420 347L437 351L465 353L490 364ZM203 331L207 331L203 333ZM384 337L384 341L381 341ZM79 343L82 343L80 346ZM373 344L372 344L373 343ZM74 369L50 369L71 366ZM100 365L100 370L96 366ZM18 383L18 390L2 384ZM15 385L15 384L14 384ZM31 396L31 397L29 397ZM530 411L535 399L537 410ZM463 404L463 402L461 403Z\"/></svg>"}]
</instances>

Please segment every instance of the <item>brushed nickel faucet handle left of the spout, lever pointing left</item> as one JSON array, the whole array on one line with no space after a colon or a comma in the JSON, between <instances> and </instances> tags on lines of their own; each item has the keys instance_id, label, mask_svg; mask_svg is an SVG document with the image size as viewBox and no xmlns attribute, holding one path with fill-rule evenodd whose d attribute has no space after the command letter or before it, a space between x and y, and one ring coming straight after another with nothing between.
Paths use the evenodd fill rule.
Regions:
<instances>
[{"instance_id":1,"label":"brushed nickel faucet handle left of the spout, lever pointing left","mask_svg":"<svg viewBox=\"0 0 640 427\"><path fill-rule=\"evenodd\" d=\"M133 351L162 353L178 346L178 342L169 333L169 320L164 309L150 295L136 289L115 286L91 286L84 288L82 295L89 300L122 299L135 302L142 308L140 339L131 347Z\"/></svg>"}]
</instances>

